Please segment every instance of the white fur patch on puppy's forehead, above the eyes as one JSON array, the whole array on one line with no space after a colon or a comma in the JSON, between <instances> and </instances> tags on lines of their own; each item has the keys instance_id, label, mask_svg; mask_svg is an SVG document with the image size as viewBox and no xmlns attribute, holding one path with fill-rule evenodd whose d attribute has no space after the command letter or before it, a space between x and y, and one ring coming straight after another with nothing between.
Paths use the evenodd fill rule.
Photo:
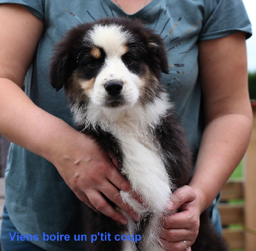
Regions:
<instances>
[{"instance_id":1,"label":"white fur patch on puppy's forehead, above the eyes","mask_svg":"<svg viewBox=\"0 0 256 251\"><path fill-rule=\"evenodd\" d=\"M122 26L111 24L108 26L96 25L89 33L89 39L98 47L104 49L108 56L124 54L122 45L131 40L131 33L122 31ZM88 40L88 38L85 38Z\"/></svg>"}]
</instances>

